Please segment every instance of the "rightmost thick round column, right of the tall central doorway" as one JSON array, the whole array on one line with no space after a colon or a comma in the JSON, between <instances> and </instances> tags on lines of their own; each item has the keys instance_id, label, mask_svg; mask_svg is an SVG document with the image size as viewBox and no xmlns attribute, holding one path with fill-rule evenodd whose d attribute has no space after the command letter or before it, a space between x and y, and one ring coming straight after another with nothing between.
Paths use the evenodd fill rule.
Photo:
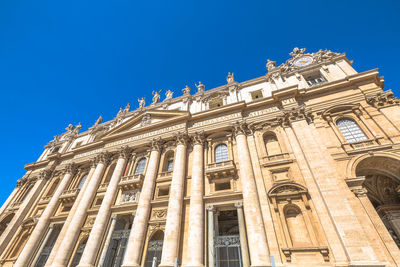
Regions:
<instances>
[{"instance_id":1,"label":"rightmost thick round column, right of the tall central doorway","mask_svg":"<svg viewBox=\"0 0 400 267\"><path fill-rule=\"evenodd\" d=\"M247 145L247 131L247 125L244 122L238 122L234 125L251 265L271 266L250 151Z\"/></svg>"}]
</instances>

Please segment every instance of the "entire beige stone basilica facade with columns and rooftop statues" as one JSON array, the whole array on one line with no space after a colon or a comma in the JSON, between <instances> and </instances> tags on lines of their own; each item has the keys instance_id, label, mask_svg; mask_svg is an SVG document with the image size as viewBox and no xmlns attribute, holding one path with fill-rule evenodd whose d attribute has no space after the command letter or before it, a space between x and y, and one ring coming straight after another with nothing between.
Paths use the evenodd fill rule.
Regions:
<instances>
[{"instance_id":1,"label":"entire beige stone basilica facade with columns and rooftop statues","mask_svg":"<svg viewBox=\"0 0 400 267\"><path fill-rule=\"evenodd\" d=\"M0 266L400 266L399 99L329 50L267 70L69 125L1 207Z\"/></svg>"}]
</instances>

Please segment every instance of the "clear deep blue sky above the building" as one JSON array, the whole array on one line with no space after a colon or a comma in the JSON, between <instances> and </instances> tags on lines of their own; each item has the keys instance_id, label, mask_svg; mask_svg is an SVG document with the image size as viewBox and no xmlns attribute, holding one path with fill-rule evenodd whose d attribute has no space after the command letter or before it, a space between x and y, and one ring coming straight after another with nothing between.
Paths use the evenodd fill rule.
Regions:
<instances>
[{"instance_id":1,"label":"clear deep blue sky above the building","mask_svg":"<svg viewBox=\"0 0 400 267\"><path fill-rule=\"evenodd\" d=\"M295 47L346 52L399 96L398 1L0 1L0 203L69 124L155 89L266 73Z\"/></svg>"}]
</instances>

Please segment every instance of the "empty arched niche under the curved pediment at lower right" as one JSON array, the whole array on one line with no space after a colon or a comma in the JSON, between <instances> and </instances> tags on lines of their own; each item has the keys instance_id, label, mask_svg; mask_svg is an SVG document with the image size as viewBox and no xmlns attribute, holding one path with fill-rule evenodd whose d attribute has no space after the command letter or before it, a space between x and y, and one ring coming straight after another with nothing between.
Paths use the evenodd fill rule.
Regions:
<instances>
[{"instance_id":1,"label":"empty arched niche under the curved pediment at lower right","mask_svg":"<svg viewBox=\"0 0 400 267\"><path fill-rule=\"evenodd\" d=\"M294 206L287 208L285 219L293 247L310 246L310 235L300 209Z\"/></svg>"}]
</instances>

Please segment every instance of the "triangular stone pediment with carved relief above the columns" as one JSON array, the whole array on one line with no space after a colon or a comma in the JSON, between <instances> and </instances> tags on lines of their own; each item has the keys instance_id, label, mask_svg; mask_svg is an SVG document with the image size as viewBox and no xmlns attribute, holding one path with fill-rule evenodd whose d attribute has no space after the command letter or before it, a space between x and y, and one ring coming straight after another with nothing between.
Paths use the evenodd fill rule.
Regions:
<instances>
[{"instance_id":1,"label":"triangular stone pediment with carved relief above the columns","mask_svg":"<svg viewBox=\"0 0 400 267\"><path fill-rule=\"evenodd\" d=\"M112 137L128 135L136 131L146 130L164 124L168 125L175 121L187 120L189 117L190 113L187 111L149 110L133 115L124 123L112 129L103 138L111 139Z\"/></svg>"}]
</instances>

